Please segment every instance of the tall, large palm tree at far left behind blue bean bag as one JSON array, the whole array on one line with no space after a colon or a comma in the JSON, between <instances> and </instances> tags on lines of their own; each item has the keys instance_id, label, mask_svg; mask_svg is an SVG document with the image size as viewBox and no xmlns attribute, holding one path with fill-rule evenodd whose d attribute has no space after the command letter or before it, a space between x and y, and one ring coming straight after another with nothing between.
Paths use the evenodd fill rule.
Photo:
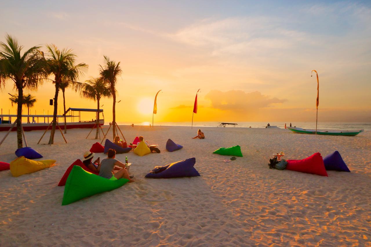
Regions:
<instances>
[{"instance_id":1,"label":"tall, large palm tree at far left behind blue bean bag","mask_svg":"<svg viewBox=\"0 0 371 247\"><path fill-rule=\"evenodd\" d=\"M23 90L36 90L45 77L44 63L39 52L40 46L33 46L21 55L23 46L18 40L7 34L6 43L0 42L0 88L7 80L14 82L18 90L17 104L17 146L22 143L22 105Z\"/></svg>"}]
</instances>

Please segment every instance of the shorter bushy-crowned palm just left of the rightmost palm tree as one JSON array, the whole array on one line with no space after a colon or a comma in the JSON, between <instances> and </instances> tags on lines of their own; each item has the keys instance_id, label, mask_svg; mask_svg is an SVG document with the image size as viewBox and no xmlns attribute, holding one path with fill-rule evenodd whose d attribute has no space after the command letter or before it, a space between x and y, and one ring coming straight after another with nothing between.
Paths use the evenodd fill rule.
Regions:
<instances>
[{"instance_id":1,"label":"shorter bushy-crowned palm just left of the rightmost palm tree","mask_svg":"<svg viewBox=\"0 0 371 247\"><path fill-rule=\"evenodd\" d=\"M95 139L98 139L99 134L99 100L102 97L110 98L112 96L111 89L106 86L105 81L103 78L92 78L90 80L85 81L86 83L83 84L81 96L87 99L92 99L98 101L98 112L97 112L97 126L96 126L96 134Z\"/></svg>"}]
</instances>

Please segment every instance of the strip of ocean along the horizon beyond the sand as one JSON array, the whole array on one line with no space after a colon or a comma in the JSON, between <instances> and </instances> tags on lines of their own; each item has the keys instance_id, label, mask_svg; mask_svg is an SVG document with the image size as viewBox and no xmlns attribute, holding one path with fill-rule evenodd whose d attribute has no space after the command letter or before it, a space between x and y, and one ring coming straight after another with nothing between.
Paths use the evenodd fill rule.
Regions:
<instances>
[{"instance_id":1,"label":"strip of ocean along the horizon beyond the sand","mask_svg":"<svg viewBox=\"0 0 371 247\"><path fill-rule=\"evenodd\" d=\"M237 123L235 128L265 128L267 122L231 122ZM119 125L150 125L152 122L121 122ZM155 126L189 126L191 122L158 122L154 123ZM193 127L219 127L219 122L193 122ZM270 126L277 126L279 128L285 127L285 122L270 122ZM286 123L286 126L290 126L290 123ZM315 129L316 122L294 122L293 127ZM234 128L233 125L226 126L226 128ZM341 122L320 122L317 125L319 130L371 130L371 123L341 123Z\"/></svg>"}]
</instances>

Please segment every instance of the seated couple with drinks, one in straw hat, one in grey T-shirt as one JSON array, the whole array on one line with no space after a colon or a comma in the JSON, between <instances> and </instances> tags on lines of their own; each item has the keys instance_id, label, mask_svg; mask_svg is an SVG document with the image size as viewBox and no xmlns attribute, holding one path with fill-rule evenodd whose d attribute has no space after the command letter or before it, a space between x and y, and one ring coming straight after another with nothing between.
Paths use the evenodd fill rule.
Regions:
<instances>
[{"instance_id":1,"label":"seated couple with drinks, one in straw hat, one in grey T-shirt","mask_svg":"<svg viewBox=\"0 0 371 247\"><path fill-rule=\"evenodd\" d=\"M129 183L134 182L131 178L134 176L129 176L125 164L116 160L116 151L114 149L109 149L107 153L107 158L102 161L98 157L94 162L92 162L94 153L90 151L84 154L82 163L88 167L90 170L99 173L99 176L107 178L109 180L118 180L119 178L126 178Z\"/></svg>"}]
</instances>

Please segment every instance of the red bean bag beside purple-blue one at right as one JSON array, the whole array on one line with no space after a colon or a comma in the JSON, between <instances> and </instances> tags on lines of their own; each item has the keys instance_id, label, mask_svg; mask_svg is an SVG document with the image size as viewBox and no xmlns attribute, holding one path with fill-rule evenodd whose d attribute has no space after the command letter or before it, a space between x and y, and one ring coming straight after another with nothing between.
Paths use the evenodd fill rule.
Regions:
<instances>
[{"instance_id":1,"label":"red bean bag beside purple-blue one at right","mask_svg":"<svg viewBox=\"0 0 371 247\"><path fill-rule=\"evenodd\" d=\"M320 153L315 153L303 160L286 160L286 170L327 176L324 161Z\"/></svg>"}]
</instances>

